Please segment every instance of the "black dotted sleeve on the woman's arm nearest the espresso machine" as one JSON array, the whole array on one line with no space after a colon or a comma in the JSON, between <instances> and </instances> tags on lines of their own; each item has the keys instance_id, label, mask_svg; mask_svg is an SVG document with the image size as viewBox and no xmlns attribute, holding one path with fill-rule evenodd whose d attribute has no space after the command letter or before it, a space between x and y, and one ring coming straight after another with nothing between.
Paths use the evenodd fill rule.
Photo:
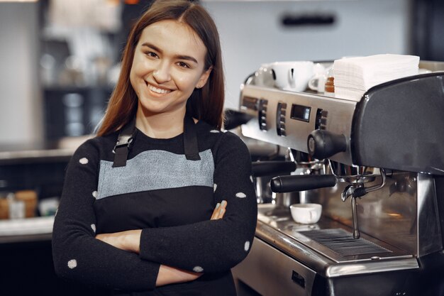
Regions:
<instances>
[{"instance_id":1,"label":"black dotted sleeve on the woman's arm nearest the espresso machine","mask_svg":"<svg viewBox=\"0 0 444 296\"><path fill-rule=\"evenodd\" d=\"M221 134L212 151L213 194L215 202L228 202L225 216L184 226L143 229L141 258L213 273L229 270L247 256L257 221L250 153L245 143L230 132Z\"/></svg>"}]
</instances>

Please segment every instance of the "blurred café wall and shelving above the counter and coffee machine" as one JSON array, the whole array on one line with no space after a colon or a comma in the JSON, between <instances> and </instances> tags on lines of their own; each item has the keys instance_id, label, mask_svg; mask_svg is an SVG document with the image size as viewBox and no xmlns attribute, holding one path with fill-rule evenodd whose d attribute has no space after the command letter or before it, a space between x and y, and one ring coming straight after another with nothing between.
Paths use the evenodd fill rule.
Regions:
<instances>
[{"instance_id":1,"label":"blurred caf\u00e9 wall and shelving above the counter and coffee machine","mask_svg":"<svg viewBox=\"0 0 444 296\"><path fill-rule=\"evenodd\" d=\"M91 133L131 23L151 1L0 1L0 145ZM262 63L398 53L443 60L438 0L201 1L215 19L226 106ZM441 14L440 14L441 13Z\"/></svg>"}]
</instances>

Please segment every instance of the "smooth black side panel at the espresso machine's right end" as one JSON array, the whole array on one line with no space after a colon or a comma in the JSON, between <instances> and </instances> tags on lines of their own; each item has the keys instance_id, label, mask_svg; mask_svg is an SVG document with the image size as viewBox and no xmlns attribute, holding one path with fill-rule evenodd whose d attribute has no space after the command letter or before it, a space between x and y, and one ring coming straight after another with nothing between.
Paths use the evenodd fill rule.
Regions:
<instances>
[{"instance_id":1,"label":"smooth black side panel at the espresso machine's right end","mask_svg":"<svg viewBox=\"0 0 444 296\"><path fill-rule=\"evenodd\" d=\"M357 103L353 163L444 175L444 72L379 84Z\"/></svg>"}]
</instances>

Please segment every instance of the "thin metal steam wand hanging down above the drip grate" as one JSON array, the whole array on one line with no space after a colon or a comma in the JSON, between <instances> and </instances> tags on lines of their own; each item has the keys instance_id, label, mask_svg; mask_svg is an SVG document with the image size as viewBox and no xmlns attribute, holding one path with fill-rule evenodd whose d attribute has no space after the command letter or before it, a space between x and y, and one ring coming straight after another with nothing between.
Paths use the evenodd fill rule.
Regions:
<instances>
[{"instance_id":1,"label":"thin metal steam wand hanging down above the drip grate","mask_svg":"<svg viewBox=\"0 0 444 296\"><path fill-rule=\"evenodd\" d=\"M360 182L353 182L350 185L347 185L345 187L343 193L341 194L341 199L343 202L348 199L348 197L351 197L352 201L352 216L353 216L353 239L359 239L360 238L360 232L359 232L359 226L357 224L357 207L356 207L356 199L359 197L363 197L368 192L372 192L374 190L379 190L385 185L385 170L383 168L379 169L379 172L382 177L382 182L379 185L374 185L370 187L365 187Z\"/></svg>"}]
</instances>

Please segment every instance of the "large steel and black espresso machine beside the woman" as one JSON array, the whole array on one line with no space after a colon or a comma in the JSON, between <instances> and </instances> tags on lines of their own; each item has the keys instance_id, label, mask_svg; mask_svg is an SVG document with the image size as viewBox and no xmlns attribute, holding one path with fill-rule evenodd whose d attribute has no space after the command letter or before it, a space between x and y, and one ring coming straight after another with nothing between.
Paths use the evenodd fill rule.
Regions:
<instances>
[{"instance_id":1,"label":"large steel and black espresso machine beside the woman","mask_svg":"<svg viewBox=\"0 0 444 296\"><path fill-rule=\"evenodd\" d=\"M240 283L262 296L444 295L444 62L420 68L431 72L357 102L245 80L243 136L287 149L288 173L253 168L274 173L274 200L258 204ZM322 204L321 219L297 224L286 194Z\"/></svg>"}]
</instances>

